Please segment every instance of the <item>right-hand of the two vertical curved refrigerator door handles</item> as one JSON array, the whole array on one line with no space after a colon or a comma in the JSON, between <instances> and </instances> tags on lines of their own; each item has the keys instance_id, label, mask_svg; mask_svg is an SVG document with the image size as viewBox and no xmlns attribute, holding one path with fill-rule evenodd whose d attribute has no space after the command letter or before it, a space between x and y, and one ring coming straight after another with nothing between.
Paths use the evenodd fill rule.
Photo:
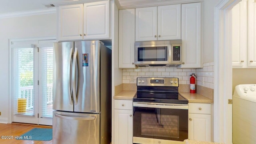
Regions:
<instances>
[{"instance_id":1,"label":"right-hand of the two vertical curved refrigerator door handles","mask_svg":"<svg viewBox=\"0 0 256 144\"><path fill-rule=\"evenodd\" d=\"M73 87L73 98L74 104L77 105L77 97L76 97L76 61L77 61L77 48L74 51L74 59L72 65L72 87Z\"/></svg>"}]
</instances>

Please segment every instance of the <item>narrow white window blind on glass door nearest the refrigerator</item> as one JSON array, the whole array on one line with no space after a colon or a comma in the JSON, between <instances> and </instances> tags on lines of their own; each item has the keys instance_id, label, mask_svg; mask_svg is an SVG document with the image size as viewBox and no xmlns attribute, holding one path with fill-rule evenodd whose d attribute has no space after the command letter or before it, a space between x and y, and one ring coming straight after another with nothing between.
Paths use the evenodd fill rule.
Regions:
<instances>
[{"instance_id":1,"label":"narrow white window blind on glass door nearest the refrigerator","mask_svg":"<svg viewBox=\"0 0 256 144\"><path fill-rule=\"evenodd\" d=\"M39 96L42 104L42 117L52 117L53 48L39 48ZM40 105L40 104L39 104Z\"/></svg>"}]
</instances>

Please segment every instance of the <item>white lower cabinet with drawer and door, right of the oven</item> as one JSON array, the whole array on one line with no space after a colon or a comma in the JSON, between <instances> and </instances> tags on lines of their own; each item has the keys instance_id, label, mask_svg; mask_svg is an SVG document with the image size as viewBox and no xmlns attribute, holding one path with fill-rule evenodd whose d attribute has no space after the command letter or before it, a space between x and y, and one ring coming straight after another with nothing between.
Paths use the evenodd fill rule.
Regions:
<instances>
[{"instance_id":1,"label":"white lower cabinet with drawer and door, right of the oven","mask_svg":"<svg viewBox=\"0 0 256 144\"><path fill-rule=\"evenodd\" d=\"M188 104L188 139L212 141L211 104Z\"/></svg>"}]
</instances>

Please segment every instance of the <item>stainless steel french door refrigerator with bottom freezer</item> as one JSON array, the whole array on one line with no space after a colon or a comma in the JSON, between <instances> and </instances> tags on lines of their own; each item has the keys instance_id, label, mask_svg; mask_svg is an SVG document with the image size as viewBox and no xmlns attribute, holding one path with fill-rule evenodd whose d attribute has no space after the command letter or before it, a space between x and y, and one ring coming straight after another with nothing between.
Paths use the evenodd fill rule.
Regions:
<instances>
[{"instance_id":1,"label":"stainless steel french door refrigerator with bottom freezer","mask_svg":"<svg viewBox=\"0 0 256 144\"><path fill-rule=\"evenodd\" d=\"M111 50L56 42L53 75L53 144L110 144Z\"/></svg>"}]
</instances>

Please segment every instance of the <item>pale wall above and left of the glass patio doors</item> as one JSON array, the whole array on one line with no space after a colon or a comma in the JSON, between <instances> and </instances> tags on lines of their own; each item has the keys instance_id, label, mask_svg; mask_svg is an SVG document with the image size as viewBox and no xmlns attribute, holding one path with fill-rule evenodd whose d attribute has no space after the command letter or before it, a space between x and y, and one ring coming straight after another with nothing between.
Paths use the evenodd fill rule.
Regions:
<instances>
[{"instance_id":1,"label":"pale wall above and left of the glass patio doors","mask_svg":"<svg viewBox=\"0 0 256 144\"><path fill-rule=\"evenodd\" d=\"M56 35L56 13L0 19L0 123L7 123L9 109L9 59L8 40Z\"/></svg>"}]
</instances>

